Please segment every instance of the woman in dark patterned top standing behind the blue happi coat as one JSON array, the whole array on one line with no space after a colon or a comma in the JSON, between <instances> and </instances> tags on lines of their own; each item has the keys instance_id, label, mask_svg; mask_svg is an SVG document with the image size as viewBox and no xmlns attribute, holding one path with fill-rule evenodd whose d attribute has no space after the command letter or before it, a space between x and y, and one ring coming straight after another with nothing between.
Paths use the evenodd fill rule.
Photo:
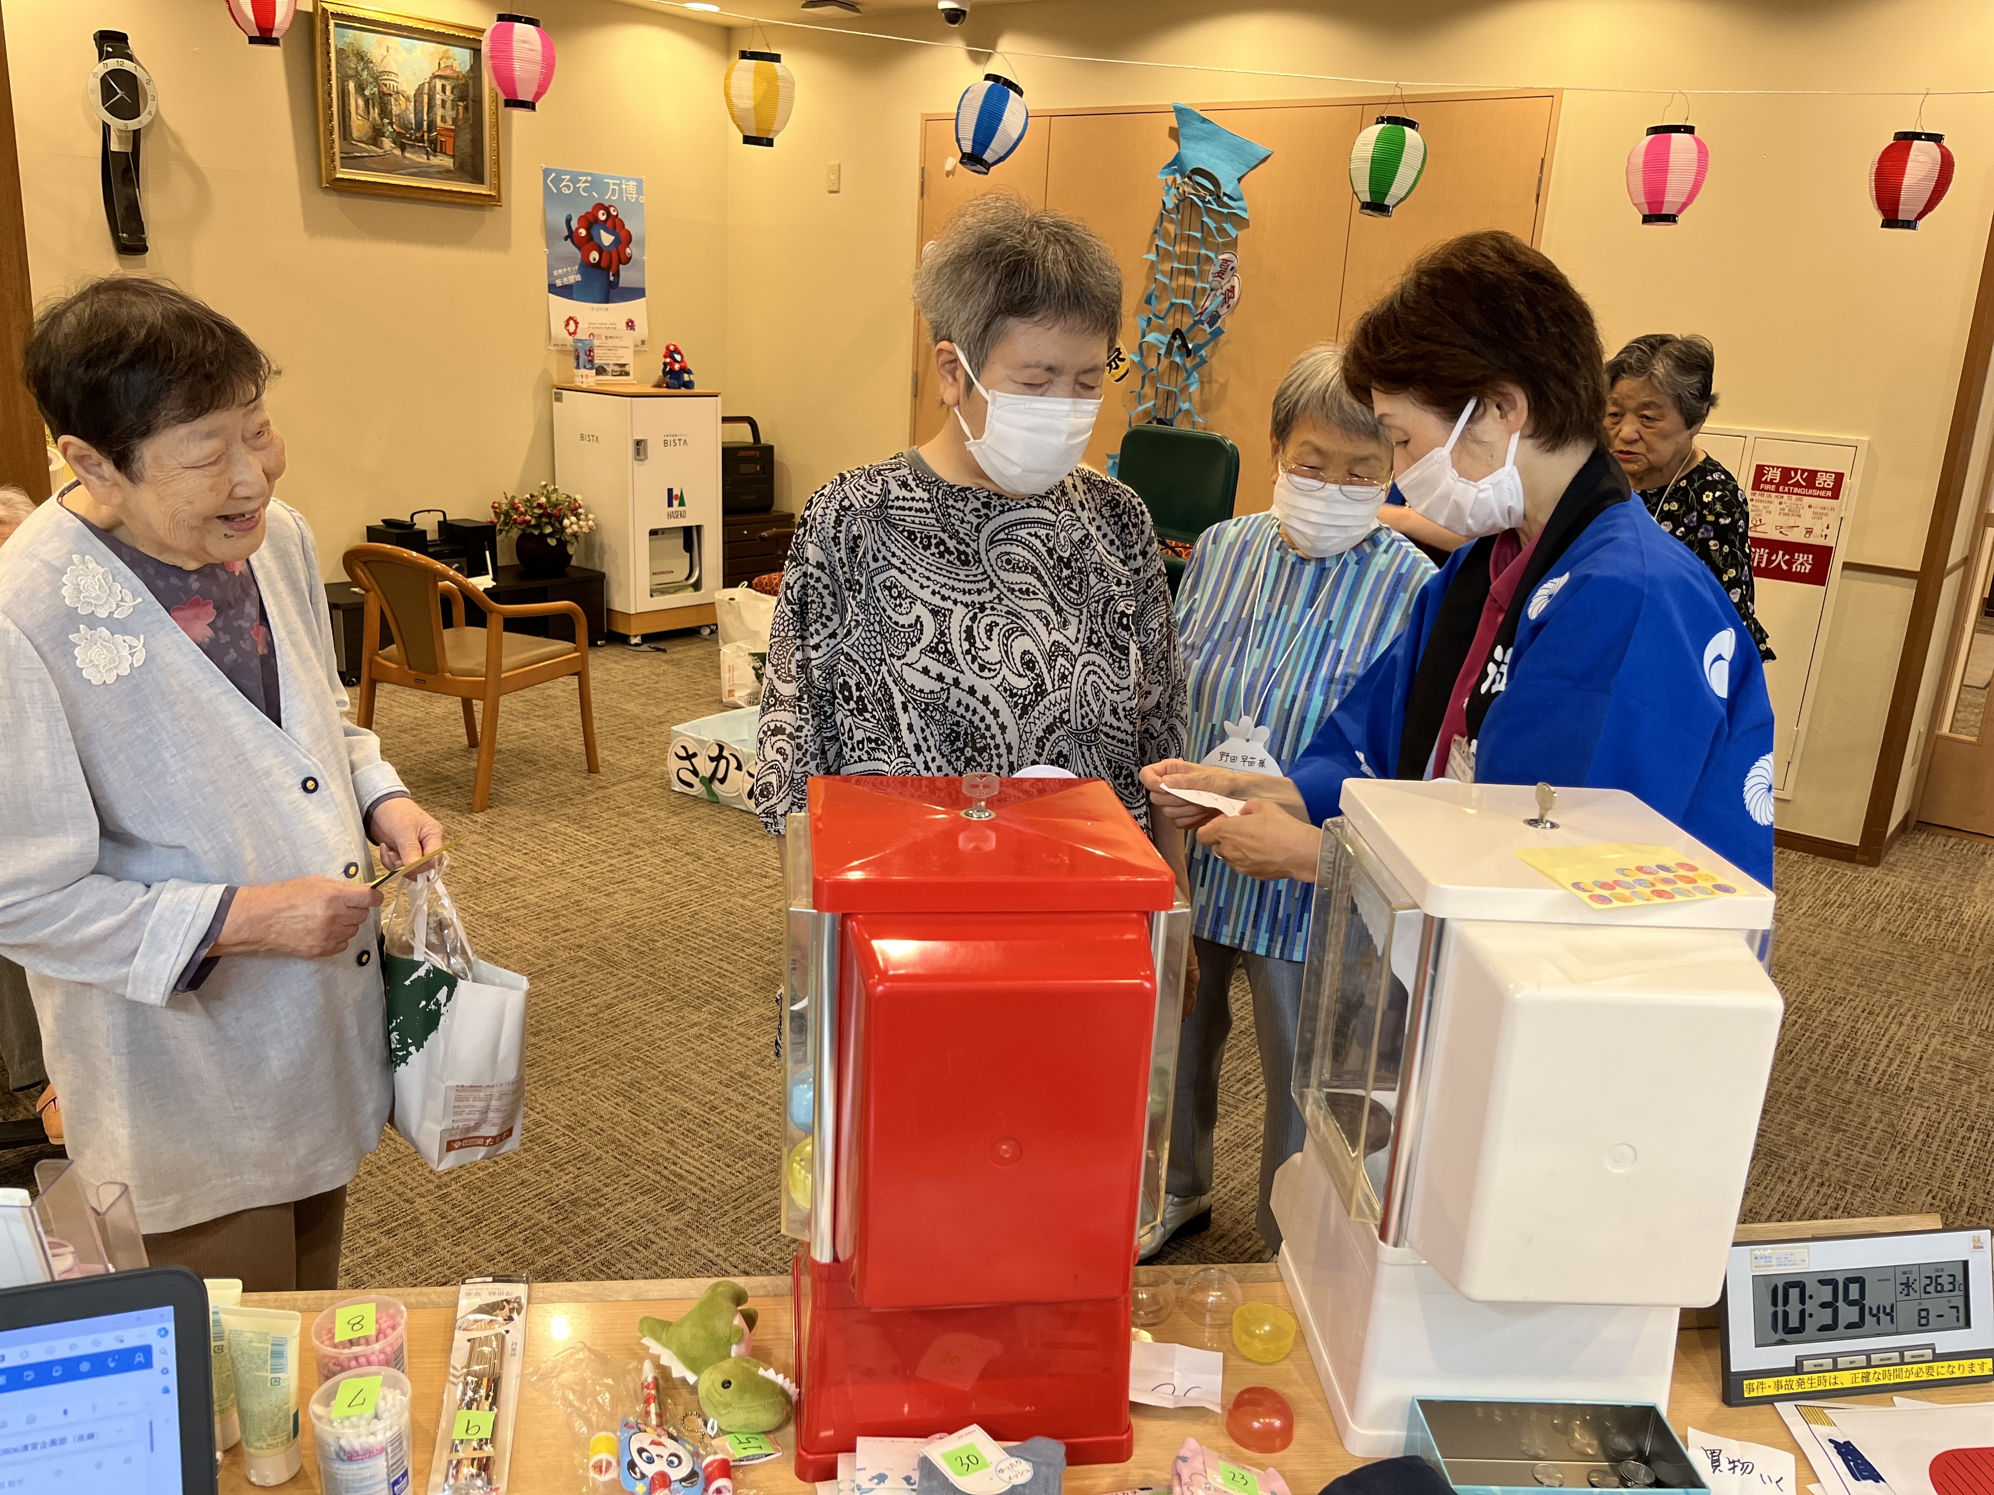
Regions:
<instances>
[{"instance_id":1,"label":"woman in dark patterned top standing behind the blue happi coat","mask_svg":"<svg viewBox=\"0 0 1994 1495\"><path fill-rule=\"evenodd\" d=\"M1607 359L1607 447L1635 496L1669 534L1711 568L1739 620L1771 660L1753 612L1751 504L1697 435L1717 395L1717 351L1705 337L1647 333Z\"/></svg>"}]
</instances>

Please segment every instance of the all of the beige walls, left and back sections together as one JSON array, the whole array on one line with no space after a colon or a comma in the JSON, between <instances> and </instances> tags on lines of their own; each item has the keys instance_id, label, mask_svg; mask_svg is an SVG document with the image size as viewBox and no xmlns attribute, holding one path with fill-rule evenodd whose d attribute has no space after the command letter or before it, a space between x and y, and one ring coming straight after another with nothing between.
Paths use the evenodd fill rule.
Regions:
<instances>
[{"instance_id":1,"label":"all of the beige walls, left and back sections together","mask_svg":"<svg viewBox=\"0 0 1994 1495\"><path fill-rule=\"evenodd\" d=\"M421 0L487 20L489 4ZM536 167L648 179L652 325L728 409L778 445L788 506L907 435L921 112L955 104L1001 44L1039 106L1314 98L1362 84L1067 64L1033 52L1196 58L1212 68L1352 72L1428 84L1623 86L1567 92L1545 247L1593 299L1609 341L1659 327L1719 345L1721 419L1870 439L1848 556L1916 566L1986 241L1994 100L1934 100L1962 171L1918 233L1882 233L1864 193L1874 150L1914 100L1699 98L1713 151L1703 201L1643 229L1621 161L1663 90L1974 88L1994 12L1966 0L1836 8L1699 0L1041 0L985 6L963 32L929 10L873 12L945 46L770 26L798 76L776 150L748 150L716 100L728 34L610 0L544 0L560 76L536 116L504 118L502 209L329 193L317 185L309 16L281 54L247 48L219 4L10 0L28 243L38 297L116 267L98 207L84 96L90 30L122 26L160 80L148 132L150 273L235 315L285 367L283 492L325 554L367 518L479 512L550 474ZM1930 38L1942 36L1942 50ZM1679 106L1677 106L1679 108ZM843 189L826 191L841 165ZM1324 191L1344 191L1326 179ZM1250 183L1248 183L1250 195ZM1252 267L1244 267L1252 295ZM1220 355L1222 357L1222 355ZM1258 480L1250 476L1248 480ZM1799 791L1781 825L1856 841L1908 582L1848 576L1828 632Z\"/></svg>"}]
</instances>

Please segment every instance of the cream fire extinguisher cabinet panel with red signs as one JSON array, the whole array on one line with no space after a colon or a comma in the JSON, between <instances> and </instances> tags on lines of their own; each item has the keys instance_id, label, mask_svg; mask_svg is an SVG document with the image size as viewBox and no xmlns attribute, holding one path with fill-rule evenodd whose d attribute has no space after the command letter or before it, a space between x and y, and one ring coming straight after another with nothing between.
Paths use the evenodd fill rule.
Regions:
<instances>
[{"instance_id":1,"label":"cream fire extinguisher cabinet panel with red signs","mask_svg":"<svg viewBox=\"0 0 1994 1495\"><path fill-rule=\"evenodd\" d=\"M1868 441L1713 427L1699 445L1731 468L1751 502L1753 594L1779 656L1765 666L1773 795L1791 799Z\"/></svg>"}]
</instances>

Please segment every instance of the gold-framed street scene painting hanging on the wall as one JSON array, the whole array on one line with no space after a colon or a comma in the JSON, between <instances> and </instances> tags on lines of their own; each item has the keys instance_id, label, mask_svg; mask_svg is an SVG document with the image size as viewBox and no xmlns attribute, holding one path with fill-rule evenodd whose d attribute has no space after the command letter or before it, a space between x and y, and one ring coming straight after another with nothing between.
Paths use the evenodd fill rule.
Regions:
<instances>
[{"instance_id":1,"label":"gold-framed street scene painting hanging on the wall","mask_svg":"<svg viewBox=\"0 0 1994 1495\"><path fill-rule=\"evenodd\" d=\"M483 30L319 0L317 58L323 185L500 201Z\"/></svg>"}]
</instances>

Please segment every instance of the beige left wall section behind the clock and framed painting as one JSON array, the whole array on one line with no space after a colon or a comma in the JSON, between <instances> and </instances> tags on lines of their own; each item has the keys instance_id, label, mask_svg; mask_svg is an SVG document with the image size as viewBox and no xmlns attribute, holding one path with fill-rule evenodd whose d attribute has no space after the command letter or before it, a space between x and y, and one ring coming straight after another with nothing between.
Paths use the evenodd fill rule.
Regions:
<instances>
[{"instance_id":1,"label":"beige left wall section behind the clock and framed painting","mask_svg":"<svg viewBox=\"0 0 1994 1495\"><path fill-rule=\"evenodd\" d=\"M391 8L391 6L383 6ZM409 12L489 24L491 4ZM36 299L118 269L98 193L90 32L126 30L160 86L144 138L152 253L283 367L279 492L325 570L383 514L489 516L552 476L542 165L646 179L650 325L726 379L726 34L610 0L542 0L560 46L534 114L500 116L504 205L361 197L319 185L313 16L251 48L215 0L8 0L22 197Z\"/></svg>"}]
</instances>

